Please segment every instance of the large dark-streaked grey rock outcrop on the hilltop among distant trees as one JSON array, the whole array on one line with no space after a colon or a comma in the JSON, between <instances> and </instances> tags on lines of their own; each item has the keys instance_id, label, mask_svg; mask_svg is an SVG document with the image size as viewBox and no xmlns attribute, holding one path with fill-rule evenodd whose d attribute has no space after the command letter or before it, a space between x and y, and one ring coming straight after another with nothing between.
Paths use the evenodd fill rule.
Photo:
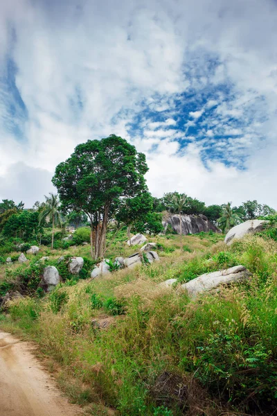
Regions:
<instances>
[{"instance_id":1,"label":"large dark-streaked grey rock outcrop on the hilltop among distant trees","mask_svg":"<svg viewBox=\"0 0 277 416\"><path fill-rule=\"evenodd\" d=\"M169 216L166 221L163 222L165 229L171 225L175 232L180 233L180 220L179 215ZM184 235L197 234L199 232L220 232L220 229L215 227L208 218L202 214L199 215L182 215L181 216L181 232Z\"/></svg>"}]
</instances>

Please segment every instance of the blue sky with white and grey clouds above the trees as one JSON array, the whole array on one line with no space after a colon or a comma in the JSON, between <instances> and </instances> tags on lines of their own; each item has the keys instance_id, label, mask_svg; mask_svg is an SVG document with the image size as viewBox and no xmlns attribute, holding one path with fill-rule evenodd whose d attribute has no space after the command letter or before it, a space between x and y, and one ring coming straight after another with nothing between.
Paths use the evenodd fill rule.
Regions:
<instances>
[{"instance_id":1,"label":"blue sky with white and grey clouds above the trees","mask_svg":"<svg viewBox=\"0 0 277 416\"><path fill-rule=\"evenodd\" d=\"M1 1L0 198L42 201L114 133L154 196L277 208L276 21L276 0Z\"/></svg>"}]
</instances>

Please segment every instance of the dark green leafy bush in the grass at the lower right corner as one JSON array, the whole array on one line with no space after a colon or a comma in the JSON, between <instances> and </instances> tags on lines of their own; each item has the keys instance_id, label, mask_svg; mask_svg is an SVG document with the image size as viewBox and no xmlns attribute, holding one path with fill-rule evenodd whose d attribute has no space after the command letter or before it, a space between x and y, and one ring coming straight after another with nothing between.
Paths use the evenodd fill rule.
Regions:
<instances>
[{"instance_id":1,"label":"dark green leafy bush in the grass at the lower right corner","mask_svg":"<svg viewBox=\"0 0 277 416\"><path fill-rule=\"evenodd\" d=\"M228 327L217 322L215 332L198 350L197 378L214 394L220 392L234 403L251 397L274 403L277 372L272 352L262 342L244 338L235 321Z\"/></svg>"}]
</instances>

